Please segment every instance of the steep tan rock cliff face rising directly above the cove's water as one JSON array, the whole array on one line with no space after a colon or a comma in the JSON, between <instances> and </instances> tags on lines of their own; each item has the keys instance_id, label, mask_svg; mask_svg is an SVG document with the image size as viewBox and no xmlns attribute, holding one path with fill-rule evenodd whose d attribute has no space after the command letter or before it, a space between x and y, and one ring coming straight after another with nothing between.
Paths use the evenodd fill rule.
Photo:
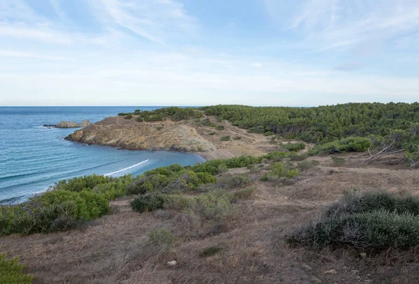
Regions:
<instances>
[{"instance_id":1,"label":"steep tan rock cliff face rising directly above the cove's water","mask_svg":"<svg viewBox=\"0 0 419 284\"><path fill-rule=\"evenodd\" d=\"M87 144L123 147L132 150L214 151L214 144L201 137L195 128L164 121L144 123L123 117L108 117L68 135L66 140Z\"/></svg>"}]
</instances>

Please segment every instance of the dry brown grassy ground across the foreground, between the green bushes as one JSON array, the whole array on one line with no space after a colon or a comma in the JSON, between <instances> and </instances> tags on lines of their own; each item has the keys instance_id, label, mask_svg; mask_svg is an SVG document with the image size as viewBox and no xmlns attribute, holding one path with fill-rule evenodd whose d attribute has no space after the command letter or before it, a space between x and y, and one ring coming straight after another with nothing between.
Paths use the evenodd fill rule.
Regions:
<instances>
[{"instance_id":1,"label":"dry brown grassy ground across the foreground, between the green bushes","mask_svg":"<svg viewBox=\"0 0 419 284\"><path fill-rule=\"evenodd\" d=\"M220 132L228 131L226 126ZM258 181L267 165L256 174L247 168L229 170L221 176L247 173L257 189L234 202L235 214L220 220L199 221L168 209L138 214L124 198L111 202L112 214L78 230L3 237L0 253L19 255L34 283L418 283L417 248L361 257L362 251L354 249L316 252L286 244L288 232L349 188L419 193L415 170L361 167L363 154L344 158L338 166L330 156L309 158L319 165L303 170L288 186ZM175 244L167 250L151 244L153 229L172 232ZM215 253L203 255L210 247L217 248ZM172 260L177 261L174 267L167 265Z\"/></svg>"}]
</instances>

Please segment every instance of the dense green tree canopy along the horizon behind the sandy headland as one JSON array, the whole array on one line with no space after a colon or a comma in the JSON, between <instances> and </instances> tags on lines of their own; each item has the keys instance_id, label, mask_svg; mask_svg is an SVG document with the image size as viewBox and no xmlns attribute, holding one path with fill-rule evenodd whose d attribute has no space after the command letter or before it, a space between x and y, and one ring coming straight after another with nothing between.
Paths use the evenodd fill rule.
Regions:
<instances>
[{"instance_id":1,"label":"dense green tree canopy along the horizon behind the sandy headland","mask_svg":"<svg viewBox=\"0 0 419 284\"><path fill-rule=\"evenodd\" d=\"M257 133L272 132L285 138L323 144L348 136L379 135L392 130L419 129L419 103L347 103L321 107L201 107L233 125Z\"/></svg>"}]
</instances>

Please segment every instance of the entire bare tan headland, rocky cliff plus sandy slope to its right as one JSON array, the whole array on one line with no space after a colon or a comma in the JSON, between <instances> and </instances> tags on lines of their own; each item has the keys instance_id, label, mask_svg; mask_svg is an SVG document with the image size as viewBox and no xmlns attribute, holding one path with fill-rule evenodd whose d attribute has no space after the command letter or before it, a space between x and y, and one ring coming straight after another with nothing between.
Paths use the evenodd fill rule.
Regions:
<instances>
[{"instance_id":1,"label":"entire bare tan headland, rocky cliff plus sandy slope to its right","mask_svg":"<svg viewBox=\"0 0 419 284\"><path fill-rule=\"evenodd\" d=\"M99 144L130 150L166 150L196 153L207 160L240 155L261 155L275 150L267 137L247 133L227 121L214 123L224 126L215 130L193 119L145 122L124 117L108 117L68 135L66 140ZM229 136L230 140L221 141ZM276 147L277 148L277 147Z\"/></svg>"}]
</instances>

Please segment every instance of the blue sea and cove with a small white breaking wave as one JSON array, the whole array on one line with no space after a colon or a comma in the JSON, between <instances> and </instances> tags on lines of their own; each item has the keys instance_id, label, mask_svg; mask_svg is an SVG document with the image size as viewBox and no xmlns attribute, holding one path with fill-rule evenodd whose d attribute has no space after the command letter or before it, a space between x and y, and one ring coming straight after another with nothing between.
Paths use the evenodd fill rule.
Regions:
<instances>
[{"instance_id":1,"label":"blue sea and cove with a small white breaking wave","mask_svg":"<svg viewBox=\"0 0 419 284\"><path fill-rule=\"evenodd\" d=\"M172 163L204 159L172 151L128 151L64 140L77 128L41 127L59 121L92 123L119 112L159 107L0 107L0 202L22 202L61 179L87 174L138 175Z\"/></svg>"}]
</instances>

